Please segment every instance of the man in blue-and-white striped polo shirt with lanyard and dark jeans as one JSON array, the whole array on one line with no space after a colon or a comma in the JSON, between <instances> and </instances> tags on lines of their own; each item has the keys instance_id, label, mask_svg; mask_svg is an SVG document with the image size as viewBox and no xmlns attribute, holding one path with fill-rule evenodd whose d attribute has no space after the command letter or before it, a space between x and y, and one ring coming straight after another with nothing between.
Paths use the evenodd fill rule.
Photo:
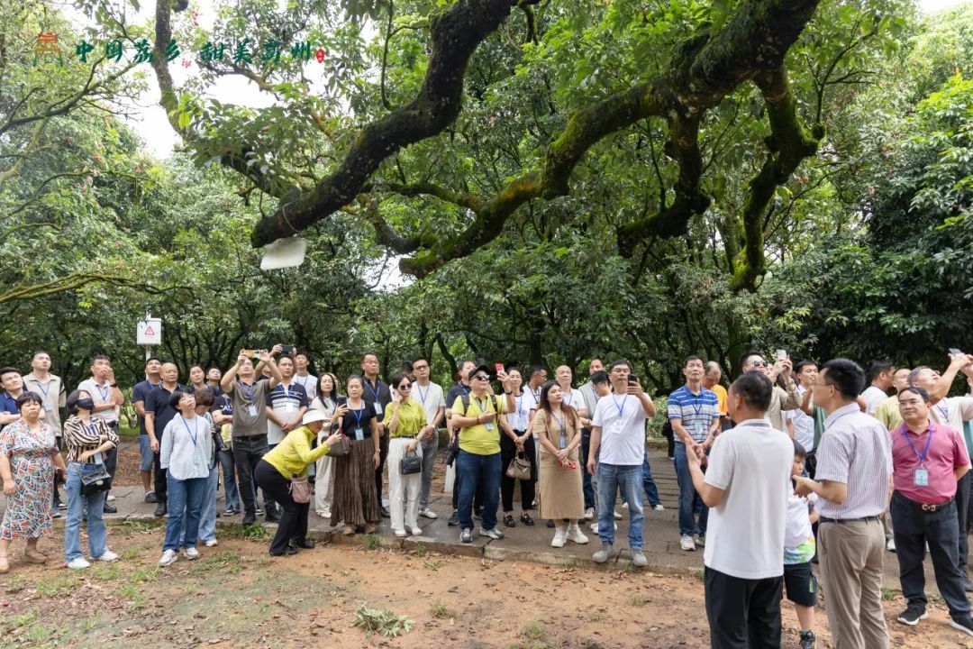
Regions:
<instances>
[{"instance_id":1,"label":"man in blue-and-white striped polo shirt with lanyard and dark jeans","mask_svg":"<svg viewBox=\"0 0 973 649\"><path fill-rule=\"evenodd\" d=\"M668 417L675 433L675 473L679 483L679 547L696 550L706 537L706 518L709 508L693 487L686 447L702 444L705 451L713 445L720 425L719 399L712 390L703 387L703 359L690 356L682 367L686 384L669 395ZM696 520L695 506L699 504L700 518ZM693 535L696 534L696 539Z\"/></svg>"}]
</instances>

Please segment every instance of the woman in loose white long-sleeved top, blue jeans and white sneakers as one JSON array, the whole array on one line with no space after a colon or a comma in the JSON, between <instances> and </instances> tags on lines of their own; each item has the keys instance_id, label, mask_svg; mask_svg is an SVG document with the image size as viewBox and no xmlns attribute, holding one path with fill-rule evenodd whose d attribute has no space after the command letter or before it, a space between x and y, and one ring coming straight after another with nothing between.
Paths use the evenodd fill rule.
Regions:
<instances>
[{"instance_id":1,"label":"woman in loose white long-sleeved top, blue jeans and white sneakers","mask_svg":"<svg viewBox=\"0 0 973 649\"><path fill-rule=\"evenodd\" d=\"M162 566L172 565L179 559L183 515L186 516L183 555L186 559L199 558L196 549L199 517L213 455L210 422L196 414L196 397L191 392L176 390L169 398L169 406L177 409L179 415L165 425L159 449L160 465L166 470L169 492L169 518L165 523L162 559L159 559Z\"/></svg>"}]
</instances>

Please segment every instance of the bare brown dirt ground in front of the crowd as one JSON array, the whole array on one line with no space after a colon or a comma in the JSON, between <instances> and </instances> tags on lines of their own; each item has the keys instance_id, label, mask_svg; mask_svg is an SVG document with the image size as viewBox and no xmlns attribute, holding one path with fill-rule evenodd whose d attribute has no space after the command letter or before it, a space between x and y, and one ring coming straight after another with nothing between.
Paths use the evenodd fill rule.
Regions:
<instances>
[{"instance_id":1,"label":"bare brown dirt ground in front of the crowd","mask_svg":"<svg viewBox=\"0 0 973 649\"><path fill-rule=\"evenodd\" d=\"M201 559L160 569L162 528L110 528L122 555L69 571L60 535L47 565L20 559L0 577L2 647L706 647L703 584L695 577L605 572L327 545L271 559L267 539L221 531ZM249 532L255 533L255 532ZM235 538L232 538L234 537ZM360 537L358 543L362 543ZM374 537L365 537L372 545ZM411 621L385 637L353 626L362 604ZM902 601L886 602L889 620ZM797 647L785 603L784 647ZM819 610L822 642L827 622ZM941 603L916 629L890 622L892 646L973 647Z\"/></svg>"}]
</instances>

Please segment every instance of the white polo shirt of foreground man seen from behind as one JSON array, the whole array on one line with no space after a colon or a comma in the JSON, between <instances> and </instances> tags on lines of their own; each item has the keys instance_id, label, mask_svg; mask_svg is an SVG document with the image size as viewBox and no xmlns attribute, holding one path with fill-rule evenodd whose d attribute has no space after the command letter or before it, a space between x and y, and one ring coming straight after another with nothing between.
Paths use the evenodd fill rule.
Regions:
<instances>
[{"instance_id":1,"label":"white polo shirt of foreground man seen from behind","mask_svg":"<svg viewBox=\"0 0 973 649\"><path fill-rule=\"evenodd\" d=\"M716 438L705 481L725 493L709 510L706 567L739 579L783 574L793 463L794 444L764 419L741 421Z\"/></svg>"}]
</instances>

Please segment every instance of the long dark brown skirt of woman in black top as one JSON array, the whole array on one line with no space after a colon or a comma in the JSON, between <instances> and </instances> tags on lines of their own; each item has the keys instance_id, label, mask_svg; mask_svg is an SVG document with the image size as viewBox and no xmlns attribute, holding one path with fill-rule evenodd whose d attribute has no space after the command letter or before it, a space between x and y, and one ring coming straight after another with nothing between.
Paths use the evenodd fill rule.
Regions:
<instances>
[{"instance_id":1,"label":"long dark brown skirt of woman in black top","mask_svg":"<svg viewBox=\"0 0 973 649\"><path fill-rule=\"evenodd\" d=\"M351 442L347 455L334 458L334 495L331 524L364 527L381 521L375 491L375 445L372 440Z\"/></svg>"}]
</instances>

